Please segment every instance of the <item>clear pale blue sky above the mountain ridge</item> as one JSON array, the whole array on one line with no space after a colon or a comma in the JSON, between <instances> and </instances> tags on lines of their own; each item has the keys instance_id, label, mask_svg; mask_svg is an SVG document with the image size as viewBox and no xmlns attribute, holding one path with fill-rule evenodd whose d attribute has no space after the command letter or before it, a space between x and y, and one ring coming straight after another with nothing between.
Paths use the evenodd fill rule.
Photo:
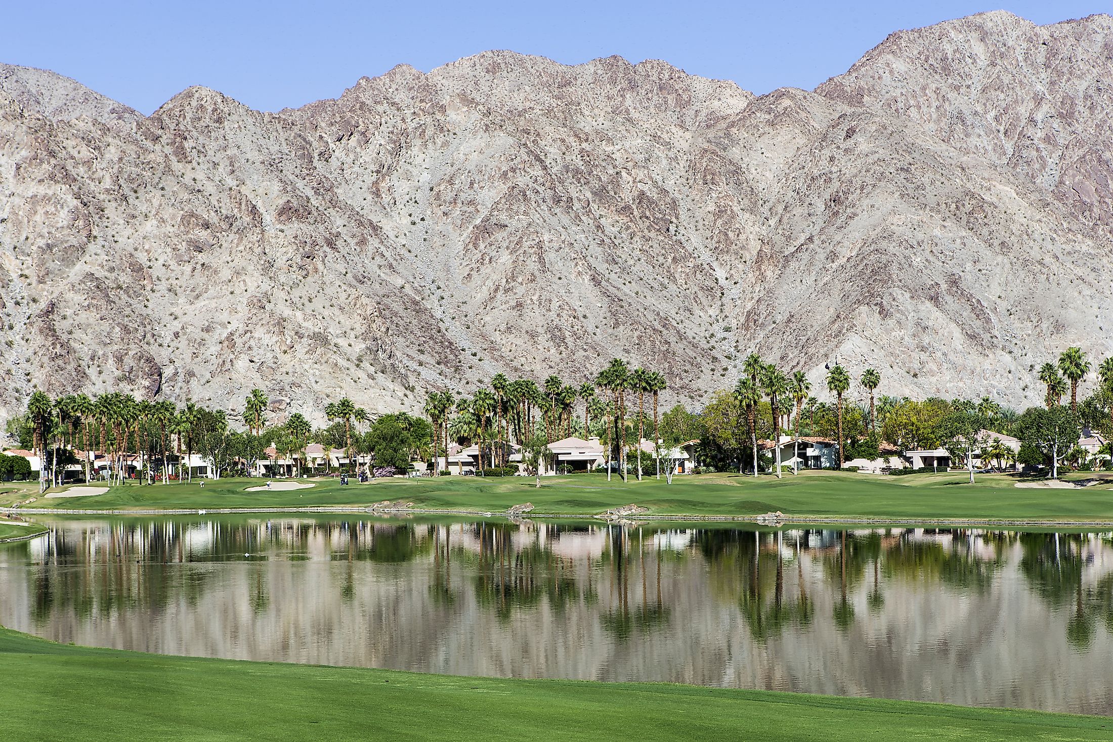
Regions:
<instances>
[{"instance_id":1,"label":"clear pale blue sky above the mountain ridge","mask_svg":"<svg viewBox=\"0 0 1113 742\"><path fill-rule=\"evenodd\" d=\"M1051 23L1113 12L1113 0L12 0L0 61L52 69L145 114L190 85L277 110L336 97L401 62L429 71L485 49L564 64L664 59L764 94L814 88L892 31L1001 8Z\"/></svg>"}]
</instances>

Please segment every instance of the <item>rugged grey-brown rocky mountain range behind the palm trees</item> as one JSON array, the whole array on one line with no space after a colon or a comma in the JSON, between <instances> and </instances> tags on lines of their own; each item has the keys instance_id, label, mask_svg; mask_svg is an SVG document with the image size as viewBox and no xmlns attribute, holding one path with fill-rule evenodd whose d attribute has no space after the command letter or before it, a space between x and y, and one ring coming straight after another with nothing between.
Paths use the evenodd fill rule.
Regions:
<instances>
[{"instance_id":1,"label":"rugged grey-brown rocky mountain range behind the palm trees","mask_svg":"<svg viewBox=\"0 0 1113 742\"><path fill-rule=\"evenodd\" d=\"M879 393L1038 401L1033 368L1113 351L1110 30L985 13L761 97L491 51L142 117L3 68L0 412L36 384L259 387L321 420L614 355L698 403L754 349L816 389L837 360Z\"/></svg>"}]
</instances>

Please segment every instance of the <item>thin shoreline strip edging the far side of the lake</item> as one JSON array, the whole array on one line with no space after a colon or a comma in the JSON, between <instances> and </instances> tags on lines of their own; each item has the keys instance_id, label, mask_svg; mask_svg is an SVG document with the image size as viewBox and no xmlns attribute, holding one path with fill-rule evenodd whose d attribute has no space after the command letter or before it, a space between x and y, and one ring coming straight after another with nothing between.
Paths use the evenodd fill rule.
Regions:
<instances>
[{"instance_id":1,"label":"thin shoreline strip edging the far side of the lake","mask_svg":"<svg viewBox=\"0 0 1113 742\"><path fill-rule=\"evenodd\" d=\"M638 516L609 516L604 514L573 512L509 512L494 510L472 510L461 508L375 508L372 506L301 506L270 508L145 508L135 510L89 509L89 508L0 508L8 515L83 515L83 516L180 516L180 515L265 515L265 514L337 514L337 515L433 515L433 516L467 516L472 518L505 518L536 519L549 518L559 520L600 520L602 523L751 523L759 526L778 527L785 525L870 525L870 526L947 526L947 527L1040 527L1040 528L1113 528L1113 519L1041 519L1041 518L918 518L918 517L879 517L879 516L820 516L820 515L786 515L772 517L761 515L682 515L682 514L639 514ZM30 536L20 536L8 540L26 540L46 531Z\"/></svg>"}]
</instances>

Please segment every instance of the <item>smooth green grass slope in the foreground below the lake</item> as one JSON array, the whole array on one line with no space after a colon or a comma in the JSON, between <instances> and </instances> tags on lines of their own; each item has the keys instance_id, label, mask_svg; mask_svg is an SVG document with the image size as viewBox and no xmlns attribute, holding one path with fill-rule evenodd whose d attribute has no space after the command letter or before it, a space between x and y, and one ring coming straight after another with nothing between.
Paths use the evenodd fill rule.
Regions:
<instances>
[{"instance_id":1,"label":"smooth green grass slope in the foreground below the lake","mask_svg":"<svg viewBox=\"0 0 1113 742\"><path fill-rule=\"evenodd\" d=\"M8 629L0 673L12 740L1113 739L1097 716L169 657Z\"/></svg>"}]
</instances>

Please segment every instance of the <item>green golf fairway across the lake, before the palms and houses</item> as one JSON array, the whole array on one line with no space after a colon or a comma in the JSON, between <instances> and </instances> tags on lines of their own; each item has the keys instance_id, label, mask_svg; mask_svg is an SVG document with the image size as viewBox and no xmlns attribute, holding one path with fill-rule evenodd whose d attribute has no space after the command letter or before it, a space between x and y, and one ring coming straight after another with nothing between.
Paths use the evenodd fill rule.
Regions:
<instances>
[{"instance_id":1,"label":"green golf fairway across the lake, before the palms and houses","mask_svg":"<svg viewBox=\"0 0 1113 742\"><path fill-rule=\"evenodd\" d=\"M311 481L311 480L306 480ZM839 517L920 519L1113 520L1113 481L1078 489L1017 488L1006 475L963 473L879 477L809 471L784 479L738 475L676 477L668 485L652 477L623 484L605 475L549 477L542 487L523 477L385 479L342 487L336 479L309 489L248 492L258 479L199 484L112 487L95 497L38 498L28 507L81 509L366 507L404 500L420 508L501 512L532 502L536 514L593 515L636 502L652 515L752 516L780 510L816 519ZM0 505L26 500L26 492L0 496Z\"/></svg>"}]
</instances>

